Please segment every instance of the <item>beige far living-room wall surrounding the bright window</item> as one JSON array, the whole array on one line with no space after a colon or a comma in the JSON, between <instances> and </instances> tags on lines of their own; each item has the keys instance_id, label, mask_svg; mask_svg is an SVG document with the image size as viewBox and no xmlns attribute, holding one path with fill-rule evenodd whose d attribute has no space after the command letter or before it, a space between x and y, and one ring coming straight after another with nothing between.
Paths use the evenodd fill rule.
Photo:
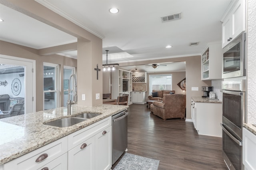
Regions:
<instances>
[{"instance_id":1,"label":"beige far living-room wall surrounding the bright window","mask_svg":"<svg viewBox=\"0 0 256 170\"><path fill-rule=\"evenodd\" d=\"M147 84L147 88L149 89L149 76L150 75L165 75L165 74L172 74L172 90L175 90L176 94L185 94L185 92L183 92L182 89L180 89L180 87L178 87L178 83L180 81L182 81L185 77L186 77L186 72L185 71L181 71L181 72L167 72L167 73L148 73L147 74L147 80L148 80L148 84ZM152 91L147 91L146 92L146 100L148 100L148 95L151 95Z\"/></svg>"}]
</instances>

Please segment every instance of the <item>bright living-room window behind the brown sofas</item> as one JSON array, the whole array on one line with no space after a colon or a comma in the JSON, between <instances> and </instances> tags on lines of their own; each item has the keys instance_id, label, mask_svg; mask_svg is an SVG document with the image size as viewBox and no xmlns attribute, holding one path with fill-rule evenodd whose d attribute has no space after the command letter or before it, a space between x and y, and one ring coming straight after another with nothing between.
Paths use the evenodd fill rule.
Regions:
<instances>
[{"instance_id":1,"label":"bright living-room window behind the brown sofas","mask_svg":"<svg viewBox=\"0 0 256 170\"><path fill-rule=\"evenodd\" d=\"M172 75L150 75L149 91L152 90L172 90Z\"/></svg>"}]
</instances>

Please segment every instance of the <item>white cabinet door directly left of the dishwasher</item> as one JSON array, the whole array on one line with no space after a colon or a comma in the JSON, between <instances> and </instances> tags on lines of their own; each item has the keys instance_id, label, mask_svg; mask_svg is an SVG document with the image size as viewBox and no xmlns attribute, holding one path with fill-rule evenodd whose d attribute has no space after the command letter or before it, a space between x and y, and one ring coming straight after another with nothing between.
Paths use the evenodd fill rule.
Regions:
<instances>
[{"instance_id":1,"label":"white cabinet door directly left of the dishwasher","mask_svg":"<svg viewBox=\"0 0 256 170\"><path fill-rule=\"evenodd\" d=\"M109 170L112 166L112 126L95 135L95 169Z\"/></svg>"}]
</instances>

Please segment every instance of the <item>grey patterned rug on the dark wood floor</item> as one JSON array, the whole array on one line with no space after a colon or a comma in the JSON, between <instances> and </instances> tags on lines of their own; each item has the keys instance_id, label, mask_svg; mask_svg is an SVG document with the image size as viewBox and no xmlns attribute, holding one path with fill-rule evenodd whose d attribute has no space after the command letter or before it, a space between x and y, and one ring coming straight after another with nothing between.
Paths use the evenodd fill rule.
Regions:
<instances>
[{"instance_id":1,"label":"grey patterned rug on the dark wood floor","mask_svg":"<svg viewBox=\"0 0 256 170\"><path fill-rule=\"evenodd\" d=\"M159 160L125 153L114 170L157 170Z\"/></svg>"}]
</instances>

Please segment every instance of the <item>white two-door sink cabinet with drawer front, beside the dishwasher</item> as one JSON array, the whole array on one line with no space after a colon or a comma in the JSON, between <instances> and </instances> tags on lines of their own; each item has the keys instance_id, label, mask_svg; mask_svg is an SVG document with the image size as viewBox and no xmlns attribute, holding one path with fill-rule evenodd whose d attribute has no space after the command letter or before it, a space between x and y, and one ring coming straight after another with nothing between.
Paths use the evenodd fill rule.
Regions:
<instances>
[{"instance_id":1,"label":"white two-door sink cabinet with drawer front, beside the dishwasher","mask_svg":"<svg viewBox=\"0 0 256 170\"><path fill-rule=\"evenodd\" d=\"M69 170L109 170L112 166L112 117L68 135L68 145L71 148Z\"/></svg>"}]
</instances>

